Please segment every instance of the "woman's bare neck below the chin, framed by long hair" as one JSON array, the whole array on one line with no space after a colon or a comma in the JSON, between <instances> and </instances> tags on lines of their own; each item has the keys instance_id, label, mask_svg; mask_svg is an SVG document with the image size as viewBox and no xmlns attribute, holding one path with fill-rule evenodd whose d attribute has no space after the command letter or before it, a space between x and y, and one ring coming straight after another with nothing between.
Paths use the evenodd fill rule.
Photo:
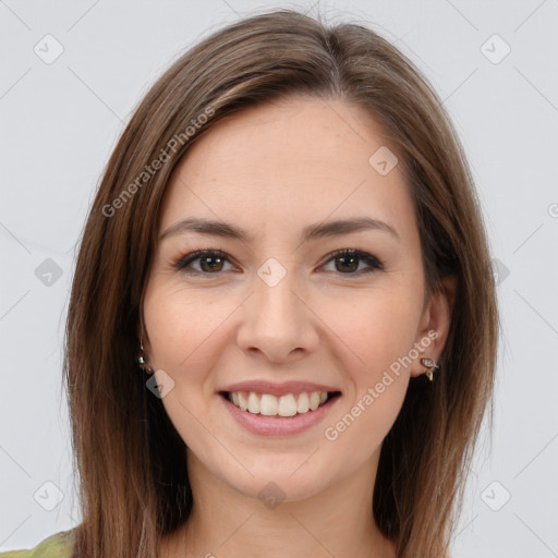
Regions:
<instances>
[{"instance_id":1,"label":"woman's bare neck below the chin, framed by long hair","mask_svg":"<svg viewBox=\"0 0 558 558\"><path fill-rule=\"evenodd\" d=\"M266 505L214 476L191 453L194 507L161 542L161 558L395 558L372 513L378 457L379 450L374 462L310 498Z\"/></svg>"}]
</instances>

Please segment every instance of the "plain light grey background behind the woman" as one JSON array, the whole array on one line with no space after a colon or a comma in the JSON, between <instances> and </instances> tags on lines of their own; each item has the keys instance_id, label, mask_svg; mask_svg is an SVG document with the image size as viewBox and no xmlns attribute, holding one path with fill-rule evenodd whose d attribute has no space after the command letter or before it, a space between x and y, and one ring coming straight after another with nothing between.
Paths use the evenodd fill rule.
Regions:
<instances>
[{"instance_id":1,"label":"plain light grey background behind the woman","mask_svg":"<svg viewBox=\"0 0 558 558\"><path fill-rule=\"evenodd\" d=\"M316 12L314 2L0 0L0 550L78 522L63 325L74 244L123 124L185 48L278 5ZM498 260L496 425L492 445L486 430L481 440L454 556L558 556L558 0L324 1L320 11L371 25L432 81ZM54 52L48 34L63 47L50 64L34 51ZM45 275L47 258L59 279Z\"/></svg>"}]
</instances>

